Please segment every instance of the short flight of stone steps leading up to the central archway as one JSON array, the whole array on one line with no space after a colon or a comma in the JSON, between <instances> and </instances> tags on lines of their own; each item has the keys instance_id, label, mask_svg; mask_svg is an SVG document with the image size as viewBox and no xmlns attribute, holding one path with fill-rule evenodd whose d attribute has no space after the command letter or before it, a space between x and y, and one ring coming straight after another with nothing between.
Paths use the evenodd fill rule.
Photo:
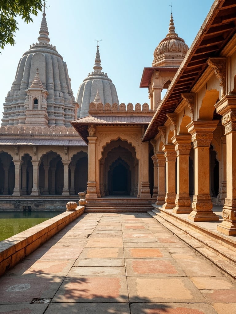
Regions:
<instances>
[{"instance_id":1,"label":"short flight of stone steps leading up to the central archway","mask_svg":"<svg viewBox=\"0 0 236 314\"><path fill-rule=\"evenodd\" d=\"M153 209L153 199L140 198L98 198L87 199L85 213L144 213Z\"/></svg>"}]
</instances>

